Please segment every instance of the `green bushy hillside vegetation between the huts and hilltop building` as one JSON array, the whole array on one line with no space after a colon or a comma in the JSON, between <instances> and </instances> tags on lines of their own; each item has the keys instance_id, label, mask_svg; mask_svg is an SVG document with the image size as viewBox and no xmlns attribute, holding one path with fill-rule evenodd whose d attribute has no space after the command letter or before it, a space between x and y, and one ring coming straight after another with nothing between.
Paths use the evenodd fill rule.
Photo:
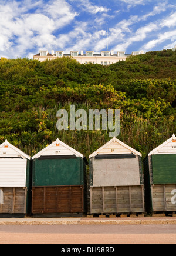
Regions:
<instances>
[{"instance_id":1,"label":"green bushy hillside vegetation between the huts and hilltop building","mask_svg":"<svg viewBox=\"0 0 176 256\"><path fill-rule=\"evenodd\" d=\"M0 59L0 144L34 155L58 137L89 156L108 131L57 131L56 112L120 109L119 139L143 157L176 132L176 51L147 52L109 67Z\"/></svg>"}]
</instances>

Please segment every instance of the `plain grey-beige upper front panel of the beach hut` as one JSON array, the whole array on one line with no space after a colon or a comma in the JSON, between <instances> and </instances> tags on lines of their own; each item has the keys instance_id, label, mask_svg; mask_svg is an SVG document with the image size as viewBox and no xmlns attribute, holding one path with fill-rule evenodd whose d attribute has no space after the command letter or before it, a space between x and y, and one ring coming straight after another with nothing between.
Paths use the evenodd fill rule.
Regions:
<instances>
[{"instance_id":1,"label":"plain grey-beige upper front panel of the beach hut","mask_svg":"<svg viewBox=\"0 0 176 256\"><path fill-rule=\"evenodd\" d=\"M140 185L140 162L136 158L95 159L92 158L93 186Z\"/></svg>"}]
</instances>

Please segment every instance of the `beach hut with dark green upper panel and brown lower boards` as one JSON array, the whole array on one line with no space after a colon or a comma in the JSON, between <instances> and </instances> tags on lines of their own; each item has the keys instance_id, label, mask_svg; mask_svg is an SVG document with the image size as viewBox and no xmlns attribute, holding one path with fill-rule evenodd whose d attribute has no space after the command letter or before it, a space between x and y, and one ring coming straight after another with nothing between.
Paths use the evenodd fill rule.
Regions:
<instances>
[{"instance_id":1,"label":"beach hut with dark green upper panel and brown lower boards","mask_svg":"<svg viewBox=\"0 0 176 256\"><path fill-rule=\"evenodd\" d=\"M58 138L33 156L32 214L86 212L86 159Z\"/></svg>"}]
</instances>

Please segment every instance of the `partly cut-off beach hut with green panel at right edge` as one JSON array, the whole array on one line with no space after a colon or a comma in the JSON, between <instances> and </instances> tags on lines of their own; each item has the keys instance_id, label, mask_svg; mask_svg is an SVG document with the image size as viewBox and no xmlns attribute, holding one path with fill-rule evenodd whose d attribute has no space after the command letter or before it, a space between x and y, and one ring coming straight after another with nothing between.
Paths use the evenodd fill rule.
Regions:
<instances>
[{"instance_id":1,"label":"partly cut-off beach hut with green panel at right edge","mask_svg":"<svg viewBox=\"0 0 176 256\"><path fill-rule=\"evenodd\" d=\"M144 159L148 212L176 212L176 138L153 149Z\"/></svg>"}]
</instances>

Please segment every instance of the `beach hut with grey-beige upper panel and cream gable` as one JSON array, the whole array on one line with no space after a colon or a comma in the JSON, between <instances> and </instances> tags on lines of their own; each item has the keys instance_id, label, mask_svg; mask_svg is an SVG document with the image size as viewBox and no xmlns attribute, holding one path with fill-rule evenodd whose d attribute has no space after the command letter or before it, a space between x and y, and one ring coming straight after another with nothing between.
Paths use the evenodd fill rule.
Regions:
<instances>
[{"instance_id":1,"label":"beach hut with grey-beige upper panel and cream gable","mask_svg":"<svg viewBox=\"0 0 176 256\"><path fill-rule=\"evenodd\" d=\"M117 138L89 156L90 213L144 212L141 154Z\"/></svg>"}]
</instances>

